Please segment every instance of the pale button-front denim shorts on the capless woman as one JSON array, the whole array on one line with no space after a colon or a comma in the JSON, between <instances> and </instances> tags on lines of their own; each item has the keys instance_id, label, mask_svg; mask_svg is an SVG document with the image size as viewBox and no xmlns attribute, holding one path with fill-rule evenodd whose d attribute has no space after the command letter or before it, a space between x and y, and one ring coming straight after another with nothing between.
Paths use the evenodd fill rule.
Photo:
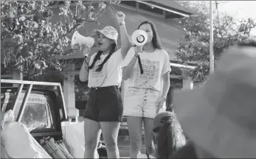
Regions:
<instances>
[{"instance_id":1,"label":"pale button-front denim shorts on the capless woman","mask_svg":"<svg viewBox=\"0 0 256 159\"><path fill-rule=\"evenodd\" d=\"M160 91L129 87L125 93L124 116L155 118Z\"/></svg>"}]
</instances>

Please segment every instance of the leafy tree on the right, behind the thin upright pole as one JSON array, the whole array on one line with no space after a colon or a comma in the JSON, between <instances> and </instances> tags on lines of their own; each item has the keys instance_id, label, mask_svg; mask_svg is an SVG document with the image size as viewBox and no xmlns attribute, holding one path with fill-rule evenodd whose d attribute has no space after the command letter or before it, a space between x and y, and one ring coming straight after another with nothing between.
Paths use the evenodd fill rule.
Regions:
<instances>
[{"instance_id":1,"label":"leafy tree on the right, behind the thin upright pole","mask_svg":"<svg viewBox=\"0 0 256 159\"><path fill-rule=\"evenodd\" d=\"M184 29L184 40L180 40L176 57L180 63L198 63L196 70L183 69L185 77L192 77L194 81L207 80L210 73L210 21L207 5L209 1L201 1L196 4L190 1L179 2L185 7L195 10L196 14L190 18L176 19ZM219 1L218 1L219 3ZM215 3L213 38L215 63L224 52L224 49L241 41L256 40L250 35L252 29L256 28L256 21L252 18L235 20L232 16L218 13L218 3Z\"/></svg>"}]
</instances>

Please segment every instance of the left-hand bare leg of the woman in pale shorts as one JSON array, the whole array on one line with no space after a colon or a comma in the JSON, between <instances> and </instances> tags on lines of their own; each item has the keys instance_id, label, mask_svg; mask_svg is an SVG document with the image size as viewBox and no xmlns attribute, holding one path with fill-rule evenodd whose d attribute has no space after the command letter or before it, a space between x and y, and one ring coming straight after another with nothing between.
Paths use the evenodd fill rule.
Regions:
<instances>
[{"instance_id":1,"label":"left-hand bare leg of the woman in pale shorts","mask_svg":"<svg viewBox=\"0 0 256 159\"><path fill-rule=\"evenodd\" d=\"M130 137L130 158L137 158L142 147L142 117L127 116Z\"/></svg>"}]
</instances>

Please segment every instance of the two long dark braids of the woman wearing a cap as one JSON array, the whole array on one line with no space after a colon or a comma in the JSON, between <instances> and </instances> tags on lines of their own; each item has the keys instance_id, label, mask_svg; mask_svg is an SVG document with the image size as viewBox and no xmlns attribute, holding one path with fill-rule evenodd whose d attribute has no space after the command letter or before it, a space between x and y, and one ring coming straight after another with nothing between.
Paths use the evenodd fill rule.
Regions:
<instances>
[{"instance_id":1,"label":"two long dark braids of the woman wearing a cap","mask_svg":"<svg viewBox=\"0 0 256 159\"><path fill-rule=\"evenodd\" d=\"M111 55L116 51L116 47L117 47L116 43L111 44L111 50L108 53L108 56L105 57L105 59L103 60L103 63L100 64L100 66L96 69L96 71L101 71L103 69L104 64L108 61L108 59L111 57ZM96 63L97 60L100 60L101 54L103 54L102 51L97 52L96 56L94 57L93 62L91 63L91 66L89 66L89 69L94 68L94 64Z\"/></svg>"}]
</instances>

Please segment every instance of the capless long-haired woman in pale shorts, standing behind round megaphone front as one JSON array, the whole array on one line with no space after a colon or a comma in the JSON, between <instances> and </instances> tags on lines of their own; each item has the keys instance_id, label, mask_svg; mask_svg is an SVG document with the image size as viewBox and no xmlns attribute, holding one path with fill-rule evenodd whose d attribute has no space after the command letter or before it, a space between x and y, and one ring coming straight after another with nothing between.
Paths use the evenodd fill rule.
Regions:
<instances>
[{"instance_id":1,"label":"capless long-haired woman in pale shorts, standing behind round megaphone front","mask_svg":"<svg viewBox=\"0 0 256 159\"><path fill-rule=\"evenodd\" d=\"M153 119L165 104L170 87L170 59L162 49L156 26L151 21L139 25L148 34L144 46L131 47L122 63L125 81L124 116L127 116L131 158L137 158L142 145L142 121L148 154L154 152Z\"/></svg>"}]
</instances>

